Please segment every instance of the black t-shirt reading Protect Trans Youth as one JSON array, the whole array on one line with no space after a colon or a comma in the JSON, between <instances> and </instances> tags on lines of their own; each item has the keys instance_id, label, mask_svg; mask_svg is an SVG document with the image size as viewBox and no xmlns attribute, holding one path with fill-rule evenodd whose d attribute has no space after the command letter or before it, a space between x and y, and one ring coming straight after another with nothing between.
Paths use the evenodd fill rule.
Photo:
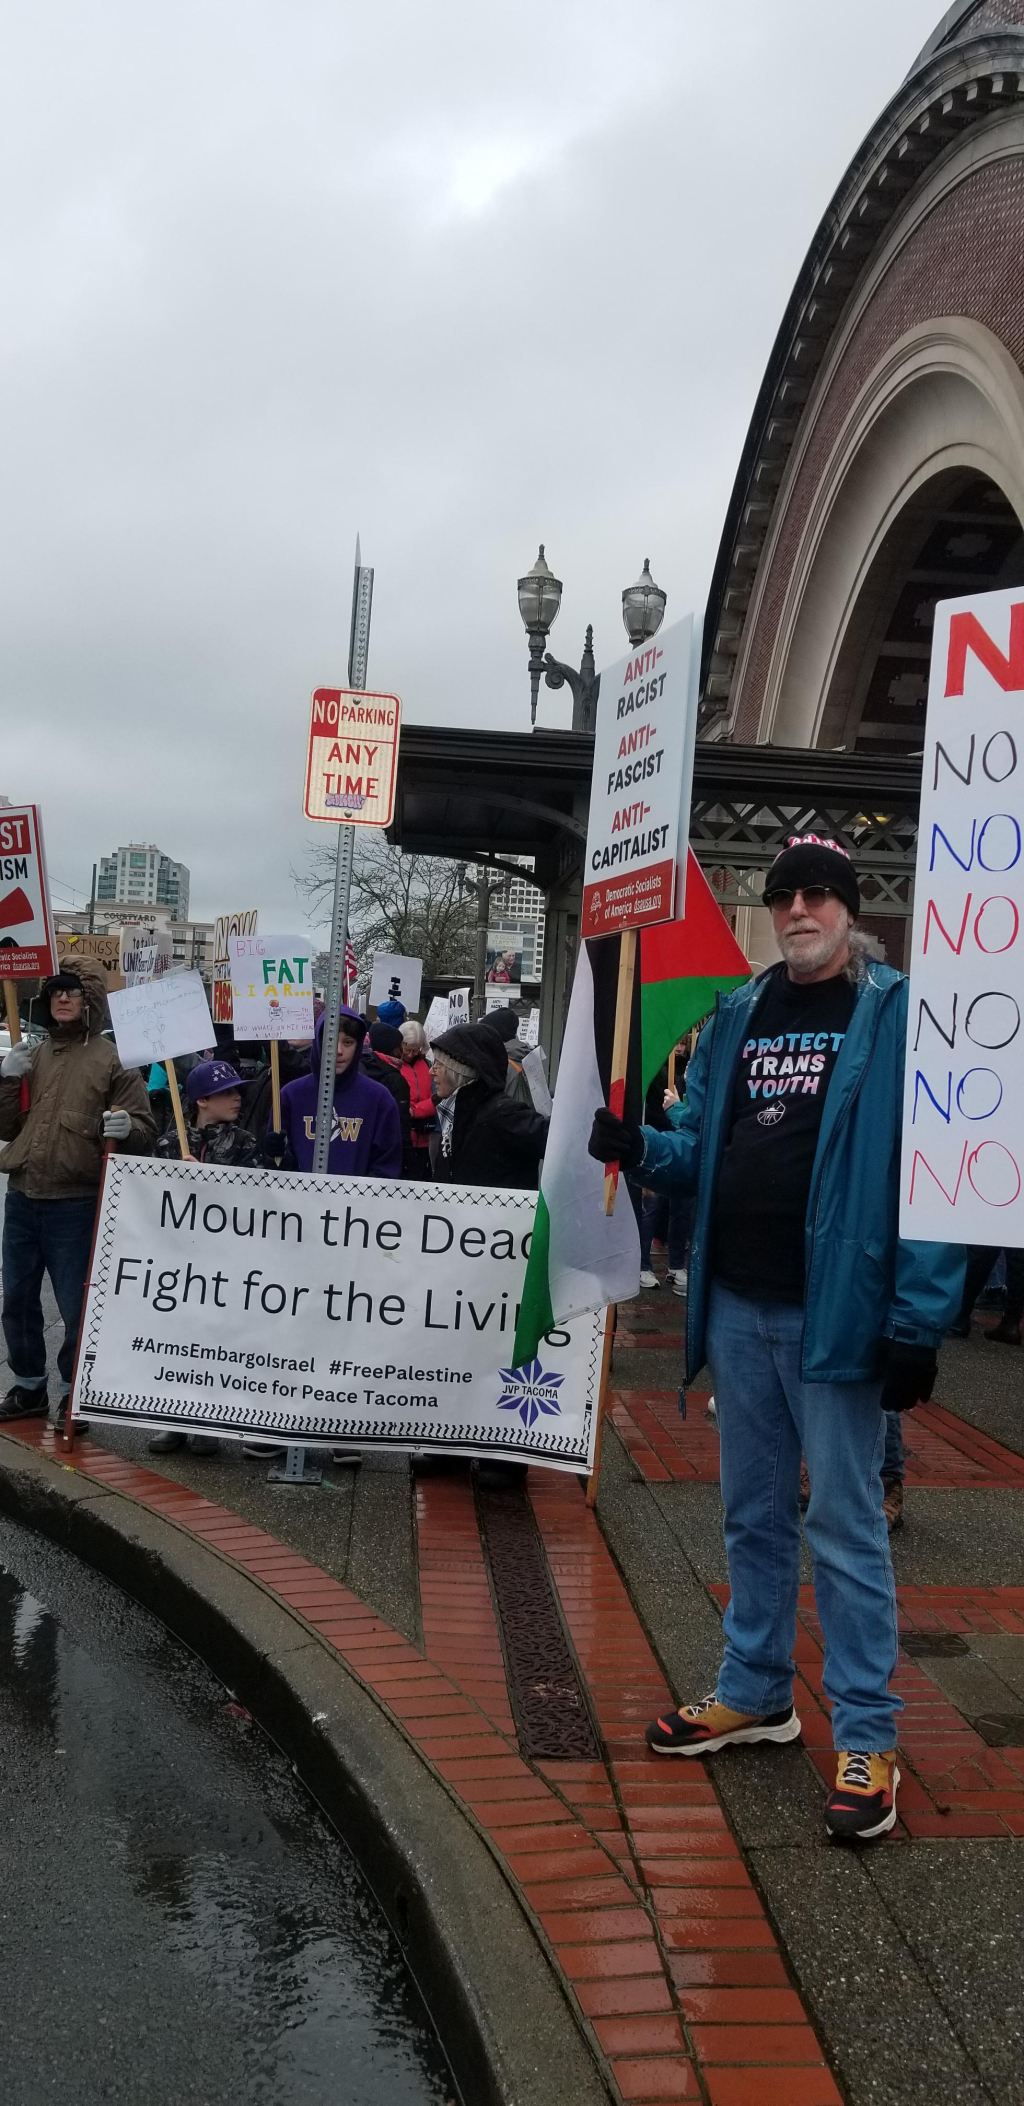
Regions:
<instances>
[{"instance_id":1,"label":"black t-shirt reading Protect Trans Youth","mask_svg":"<svg viewBox=\"0 0 1024 2106\"><path fill-rule=\"evenodd\" d=\"M855 992L777 965L740 1051L714 1205L714 1278L756 1302L803 1302L818 1129Z\"/></svg>"}]
</instances>

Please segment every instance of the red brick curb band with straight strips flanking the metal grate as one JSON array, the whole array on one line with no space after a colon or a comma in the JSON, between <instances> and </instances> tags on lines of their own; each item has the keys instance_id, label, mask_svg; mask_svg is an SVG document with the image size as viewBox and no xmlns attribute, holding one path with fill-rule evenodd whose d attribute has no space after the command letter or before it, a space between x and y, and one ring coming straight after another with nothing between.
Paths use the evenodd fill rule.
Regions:
<instances>
[{"instance_id":1,"label":"red brick curb band with straight strips flanking the metal grate","mask_svg":"<svg viewBox=\"0 0 1024 2106\"><path fill-rule=\"evenodd\" d=\"M4 1432L55 1453L38 1422ZM468 1476L417 1485L419 1651L263 1529L93 1441L72 1455L251 1573L339 1653L501 1860L613 2095L839 2106L708 1771L643 1750L641 1727L670 1693L575 1478L531 1470L529 1491L603 1761L537 1765L516 1746Z\"/></svg>"}]
</instances>

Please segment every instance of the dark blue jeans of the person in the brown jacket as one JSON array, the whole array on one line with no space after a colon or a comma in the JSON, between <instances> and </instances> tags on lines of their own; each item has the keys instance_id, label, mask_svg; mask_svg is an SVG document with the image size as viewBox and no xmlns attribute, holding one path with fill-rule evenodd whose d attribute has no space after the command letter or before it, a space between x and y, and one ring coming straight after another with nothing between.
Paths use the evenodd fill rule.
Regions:
<instances>
[{"instance_id":1,"label":"dark blue jeans of the person in the brown jacket","mask_svg":"<svg viewBox=\"0 0 1024 2106\"><path fill-rule=\"evenodd\" d=\"M93 1249L95 1198L25 1198L8 1186L4 1205L4 1337L11 1373L23 1390L46 1388L42 1274L51 1274L63 1316L57 1354L59 1392L67 1396Z\"/></svg>"}]
</instances>

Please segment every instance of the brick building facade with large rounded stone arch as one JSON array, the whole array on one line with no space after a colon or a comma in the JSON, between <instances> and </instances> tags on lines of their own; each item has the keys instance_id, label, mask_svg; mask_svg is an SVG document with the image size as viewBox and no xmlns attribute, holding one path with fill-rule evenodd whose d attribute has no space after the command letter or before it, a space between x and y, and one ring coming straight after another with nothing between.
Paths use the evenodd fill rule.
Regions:
<instances>
[{"instance_id":1,"label":"brick building facade with large rounded stone arch","mask_svg":"<svg viewBox=\"0 0 1024 2106\"><path fill-rule=\"evenodd\" d=\"M1024 583L1022 522L1024 0L961 0L786 307L714 569L702 737L919 752L936 600Z\"/></svg>"}]
</instances>

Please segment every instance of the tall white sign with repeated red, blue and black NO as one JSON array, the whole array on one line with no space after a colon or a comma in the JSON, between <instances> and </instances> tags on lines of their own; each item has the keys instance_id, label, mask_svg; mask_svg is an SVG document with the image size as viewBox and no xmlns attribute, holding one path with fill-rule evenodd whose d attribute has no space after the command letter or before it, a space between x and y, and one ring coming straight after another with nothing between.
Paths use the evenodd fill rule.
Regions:
<instances>
[{"instance_id":1,"label":"tall white sign with repeated red, blue and black NO","mask_svg":"<svg viewBox=\"0 0 1024 2106\"><path fill-rule=\"evenodd\" d=\"M1024 1245L1024 596L936 607L900 1234Z\"/></svg>"}]
</instances>

